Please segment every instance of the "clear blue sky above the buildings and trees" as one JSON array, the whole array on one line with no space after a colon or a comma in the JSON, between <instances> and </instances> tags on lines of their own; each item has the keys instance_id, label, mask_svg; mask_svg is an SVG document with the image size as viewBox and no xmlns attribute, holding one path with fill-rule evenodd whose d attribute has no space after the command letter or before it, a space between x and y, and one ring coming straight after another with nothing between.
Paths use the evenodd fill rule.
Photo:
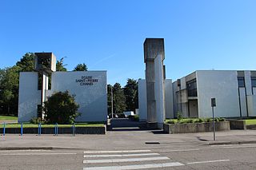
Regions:
<instances>
[{"instance_id":1,"label":"clear blue sky above the buildings and trees","mask_svg":"<svg viewBox=\"0 0 256 170\"><path fill-rule=\"evenodd\" d=\"M1 0L0 68L53 52L69 70L143 78L145 38L165 38L166 77L197 69L255 69L255 0Z\"/></svg>"}]
</instances>

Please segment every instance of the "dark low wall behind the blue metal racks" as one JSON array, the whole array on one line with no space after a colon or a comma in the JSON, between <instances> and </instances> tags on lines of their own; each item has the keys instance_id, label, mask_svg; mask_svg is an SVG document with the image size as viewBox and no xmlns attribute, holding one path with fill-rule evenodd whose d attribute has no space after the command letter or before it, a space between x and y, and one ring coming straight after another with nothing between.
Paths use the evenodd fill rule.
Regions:
<instances>
[{"instance_id":1,"label":"dark low wall behind the blue metal racks","mask_svg":"<svg viewBox=\"0 0 256 170\"><path fill-rule=\"evenodd\" d=\"M0 128L3 133L3 128ZM6 128L6 133L20 134L21 128ZM54 134L54 128L41 128L41 134ZM104 127L76 127L76 134L106 134ZM38 134L38 128L23 128L23 134ZM72 134L72 128L58 128L58 134Z\"/></svg>"}]
</instances>

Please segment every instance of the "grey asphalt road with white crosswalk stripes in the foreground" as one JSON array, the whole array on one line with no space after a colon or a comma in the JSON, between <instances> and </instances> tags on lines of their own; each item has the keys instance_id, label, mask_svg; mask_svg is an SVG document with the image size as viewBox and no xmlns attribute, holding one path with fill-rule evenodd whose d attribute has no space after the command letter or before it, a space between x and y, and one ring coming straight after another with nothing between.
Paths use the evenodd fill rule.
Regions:
<instances>
[{"instance_id":1,"label":"grey asphalt road with white crosswalk stripes in the foreground","mask_svg":"<svg viewBox=\"0 0 256 170\"><path fill-rule=\"evenodd\" d=\"M153 145L152 145L153 146ZM256 144L0 151L0 169L256 169Z\"/></svg>"}]
</instances>

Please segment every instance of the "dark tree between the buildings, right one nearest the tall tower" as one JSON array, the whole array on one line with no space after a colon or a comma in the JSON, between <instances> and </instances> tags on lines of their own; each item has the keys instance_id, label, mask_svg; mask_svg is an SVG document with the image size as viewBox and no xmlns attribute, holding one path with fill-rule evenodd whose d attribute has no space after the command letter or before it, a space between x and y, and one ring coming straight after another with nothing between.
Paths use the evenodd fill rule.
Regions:
<instances>
[{"instance_id":1,"label":"dark tree between the buildings, right one nearest the tall tower","mask_svg":"<svg viewBox=\"0 0 256 170\"><path fill-rule=\"evenodd\" d=\"M124 93L126 96L126 110L135 112L135 109L138 108L138 81L128 78Z\"/></svg>"}]
</instances>

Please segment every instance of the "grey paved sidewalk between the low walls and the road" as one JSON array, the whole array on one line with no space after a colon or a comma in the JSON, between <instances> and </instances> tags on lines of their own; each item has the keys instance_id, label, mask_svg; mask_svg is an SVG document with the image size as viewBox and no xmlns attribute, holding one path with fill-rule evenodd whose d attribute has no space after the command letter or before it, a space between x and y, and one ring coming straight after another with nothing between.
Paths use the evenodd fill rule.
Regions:
<instances>
[{"instance_id":1,"label":"grey paved sidewalk between the low walls and the road","mask_svg":"<svg viewBox=\"0 0 256 170\"><path fill-rule=\"evenodd\" d=\"M6 134L0 136L0 149L116 149L170 147L182 148L208 144L256 144L255 130L232 130L216 132L164 134L161 131L109 131L106 135L44 135ZM158 145L146 144L157 141Z\"/></svg>"}]
</instances>

